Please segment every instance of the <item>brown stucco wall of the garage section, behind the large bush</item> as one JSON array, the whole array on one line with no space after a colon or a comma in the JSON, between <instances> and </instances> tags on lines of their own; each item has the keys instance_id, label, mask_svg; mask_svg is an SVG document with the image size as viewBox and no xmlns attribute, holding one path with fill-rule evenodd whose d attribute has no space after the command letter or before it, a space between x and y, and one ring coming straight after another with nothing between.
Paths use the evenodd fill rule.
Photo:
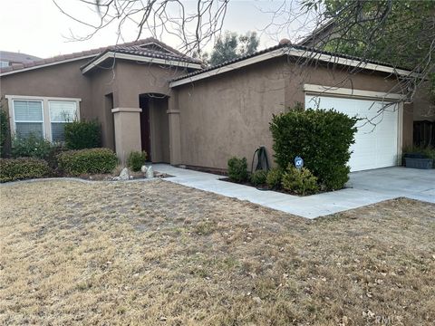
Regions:
<instances>
[{"instance_id":1,"label":"brown stucco wall of the garage section, behind the large bush","mask_svg":"<svg viewBox=\"0 0 435 326\"><path fill-rule=\"evenodd\" d=\"M256 63L174 88L180 111L180 163L206 168L227 168L231 156L248 161L264 145L273 161L269 122L272 115L304 102L304 83L391 91L393 80L384 75L347 72L326 67L301 68L286 58ZM407 107L407 110L412 108ZM411 141L412 115L404 115L403 135Z\"/></svg>"}]
</instances>

